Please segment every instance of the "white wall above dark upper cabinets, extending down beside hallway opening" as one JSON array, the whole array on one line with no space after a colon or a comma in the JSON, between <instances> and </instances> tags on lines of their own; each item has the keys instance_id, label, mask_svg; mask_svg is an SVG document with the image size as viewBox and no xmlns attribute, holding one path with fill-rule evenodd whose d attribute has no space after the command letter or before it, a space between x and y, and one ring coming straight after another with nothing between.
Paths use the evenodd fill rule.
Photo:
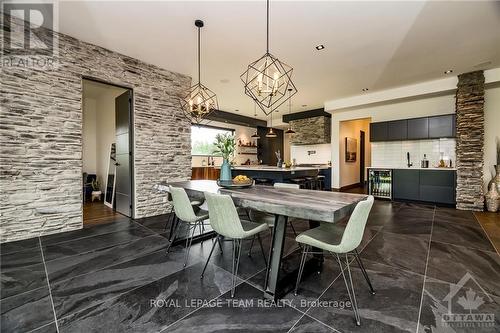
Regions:
<instances>
[{"instance_id":1,"label":"white wall above dark upper cabinets, extending down beside hallway opening","mask_svg":"<svg viewBox=\"0 0 500 333\"><path fill-rule=\"evenodd\" d=\"M341 145L339 144L339 140L343 140L340 135L341 121L371 118L372 122L378 122L451 114L455 112L455 95L454 93L449 93L442 96L389 101L387 103L364 105L338 111L327 111L332 112L332 187L340 188L340 184L346 183L340 179L339 168L339 161L343 158L340 151Z\"/></svg>"}]
</instances>

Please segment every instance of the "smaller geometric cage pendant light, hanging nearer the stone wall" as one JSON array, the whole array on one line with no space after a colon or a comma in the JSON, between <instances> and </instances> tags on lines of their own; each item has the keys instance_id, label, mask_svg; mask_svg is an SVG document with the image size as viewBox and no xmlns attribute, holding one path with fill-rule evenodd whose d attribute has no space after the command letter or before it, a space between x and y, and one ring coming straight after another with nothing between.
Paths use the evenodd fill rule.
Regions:
<instances>
[{"instance_id":1,"label":"smaller geometric cage pendant light, hanging nearer the stone wall","mask_svg":"<svg viewBox=\"0 0 500 333\"><path fill-rule=\"evenodd\" d=\"M181 99L181 108L186 118L191 123L200 124L212 111L219 109L217 95L201 83L201 51L200 37L201 28L203 27L202 20L194 21L194 25L198 28L198 83L189 88L186 96Z\"/></svg>"}]
</instances>

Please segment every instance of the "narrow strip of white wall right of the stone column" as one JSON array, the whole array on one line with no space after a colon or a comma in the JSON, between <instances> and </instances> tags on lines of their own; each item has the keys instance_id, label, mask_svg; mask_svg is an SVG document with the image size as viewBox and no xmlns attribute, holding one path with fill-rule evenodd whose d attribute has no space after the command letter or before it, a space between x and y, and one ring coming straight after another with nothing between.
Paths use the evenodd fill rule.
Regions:
<instances>
[{"instance_id":1,"label":"narrow strip of white wall right of the stone column","mask_svg":"<svg viewBox=\"0 0 500 333\"><path fill-rule=\"evenodd\" d=\"M500 140L500 86L487 88L484 96L484 188L495 175L496 141ZM500 144L500 143L499 143Z\"/></svg>"}]
</instances>

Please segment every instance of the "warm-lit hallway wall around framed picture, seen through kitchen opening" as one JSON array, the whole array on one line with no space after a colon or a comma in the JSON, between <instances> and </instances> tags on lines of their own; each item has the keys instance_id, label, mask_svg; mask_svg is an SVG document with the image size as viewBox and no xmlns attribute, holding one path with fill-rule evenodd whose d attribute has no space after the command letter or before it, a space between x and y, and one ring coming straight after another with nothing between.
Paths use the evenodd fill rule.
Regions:
<instances>
[{"instance_id":1,"label":"warm-lit hallway wall around framed picture, seen through kitchen opening","mask_svg":"<svg viewBox=\"0 0 500 333\"><path fill-rule=\"evenodd\" d=\"M357 119L351 121L342 121L339 125L339 138L336 140L339 149L339 158L337 169L339 170L339 187L358 184L360 182L360 131L365 132L365 168L371 165L371 147L370 147L370 118ZM357 143L356 162L345 161L345 138L354 138Z\"/></svg>"}]
</instances>

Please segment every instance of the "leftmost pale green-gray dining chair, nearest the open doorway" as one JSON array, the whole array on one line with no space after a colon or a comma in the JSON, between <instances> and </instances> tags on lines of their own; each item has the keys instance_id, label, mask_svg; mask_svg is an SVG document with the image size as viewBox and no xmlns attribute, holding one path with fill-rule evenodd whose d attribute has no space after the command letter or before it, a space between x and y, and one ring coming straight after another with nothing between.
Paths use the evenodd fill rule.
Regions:
<instances>
[{"instance_id":1,"label":"leftmost pale green-gray dining chair, nearest the open doorway","mask_svg":"<svg viewBox=\"0 0 500 333\"><path fill-rule=\"evenodd\" d=\"M174 205L174 212L177 218L180 221L186 223L187 231L186 231L186 258L184 259L184 267L186 267L189 251L191 250L191 243L193 242L194 233L196 231L196 227L201 227L205 220L208 219L208 212L204 210L198 211L196 214L193 209L193 205L189 197L187 196L186 191L180 187L169 186L169 192L172 196L172 203ZM177 223L174 227L173 237L168 244L167 253L170 251L170 247L175 241L177 234L179 232L180 223ZM191 233L191 236L190 236Z\"/></svg>"}]
</instances>

